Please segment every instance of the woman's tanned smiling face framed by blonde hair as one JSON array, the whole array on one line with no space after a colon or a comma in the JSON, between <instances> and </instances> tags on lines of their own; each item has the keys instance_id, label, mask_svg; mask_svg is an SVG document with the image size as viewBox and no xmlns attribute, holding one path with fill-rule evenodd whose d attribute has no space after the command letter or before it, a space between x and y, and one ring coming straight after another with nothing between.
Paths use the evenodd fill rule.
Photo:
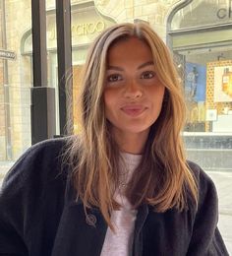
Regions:
<instances>
[{"instance_id":1,"label":"woman's tanned smiling face framed by blonde hair","mask_svg":"<svg viewBox=\"0 0 232 256\"><path fill-rule=\"evenodd\" d=\"M164 86L145 41L129 37L109 48L103 96L115 135L148 134L159 116Z\"/></svg>"}]
</instances>

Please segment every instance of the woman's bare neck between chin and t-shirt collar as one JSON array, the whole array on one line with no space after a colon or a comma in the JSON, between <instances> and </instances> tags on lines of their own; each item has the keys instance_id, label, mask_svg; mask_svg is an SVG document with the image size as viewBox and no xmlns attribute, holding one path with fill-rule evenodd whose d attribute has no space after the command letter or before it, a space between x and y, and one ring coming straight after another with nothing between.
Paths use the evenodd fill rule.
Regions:
<instances>
[{"instance_id":1,"label":"woman's bare neck between chin and t-shirt collar","mask_svg":"<svg viewBox=\"0 0 232 256\"><path fill-rule=\"evenodd\" d=\"M141 155L144 153L145 142L148 136L148 131L141 133L125 133L117 131L114 133L116 143L122 152Z\"/></svg>"}]
</instances>

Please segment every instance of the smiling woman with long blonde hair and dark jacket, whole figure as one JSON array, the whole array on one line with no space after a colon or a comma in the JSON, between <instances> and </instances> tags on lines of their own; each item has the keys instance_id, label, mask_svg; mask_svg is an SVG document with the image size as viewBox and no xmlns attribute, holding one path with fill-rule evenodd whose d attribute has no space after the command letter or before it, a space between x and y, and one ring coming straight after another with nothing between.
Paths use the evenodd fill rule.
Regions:
<instances>
[{"instance_id":1,"label":"smiling woman with long blonde hair and dark jacket, whole figure","mask_svg":"<svg viewBox=\"0 0 232 256\"><path fill-rule=\"evenodd\" d=\"M33 146L5 178L0 255L228 255L209 177L185 158L181 85L145 24L87 55L83 132Z\"/></svg>"}]
</instances>

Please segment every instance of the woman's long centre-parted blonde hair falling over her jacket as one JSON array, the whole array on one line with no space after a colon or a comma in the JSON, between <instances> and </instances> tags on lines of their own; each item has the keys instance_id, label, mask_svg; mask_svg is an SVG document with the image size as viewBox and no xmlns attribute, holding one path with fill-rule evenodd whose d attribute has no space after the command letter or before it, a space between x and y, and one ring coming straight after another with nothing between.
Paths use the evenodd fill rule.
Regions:
<instances>
[{"instance_id":1,"label":"woman's long centre-parted blonde hair falling over her jacket","mask_svg":"<svg viewBox=\"0 0 232 256\"><path fill-rule=\"evenodd\" d=\"M165 95L126 196L135 208L146 203L156 212L170 208L182 211L188 208L188 198L198 202L196 181L180 134L186 118L182 86L168 48L144 23L115 25L102 32L88 51L81 90L83 132L71 137L68 151L74 186L85 211L98 207L111 228L110 214L120 207L113 199L119 180L119 149L110 133L102 95L109 47L130 36L137 36L150 47Z\"/></svg>"}]
</instances>

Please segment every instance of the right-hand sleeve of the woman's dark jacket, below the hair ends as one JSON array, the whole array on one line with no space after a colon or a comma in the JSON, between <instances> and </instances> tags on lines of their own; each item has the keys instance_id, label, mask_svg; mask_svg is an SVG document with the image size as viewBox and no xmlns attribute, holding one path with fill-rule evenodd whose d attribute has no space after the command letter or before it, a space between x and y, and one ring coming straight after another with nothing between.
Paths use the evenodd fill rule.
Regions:
<instances>
[{"instance_id":1,"label":"right-hand sleeve of the woman's dark jacket, below the hair ends","mask_svg":"<svg viewBox=\"0 0 232 256\"><path fill-rule=\"evenodd\" d=\"M229 255L217 227L218 198L215 185L197 164L194 164L192 169L199 186L199 205L187 255Z\"/></svg>"}]
</instances>

